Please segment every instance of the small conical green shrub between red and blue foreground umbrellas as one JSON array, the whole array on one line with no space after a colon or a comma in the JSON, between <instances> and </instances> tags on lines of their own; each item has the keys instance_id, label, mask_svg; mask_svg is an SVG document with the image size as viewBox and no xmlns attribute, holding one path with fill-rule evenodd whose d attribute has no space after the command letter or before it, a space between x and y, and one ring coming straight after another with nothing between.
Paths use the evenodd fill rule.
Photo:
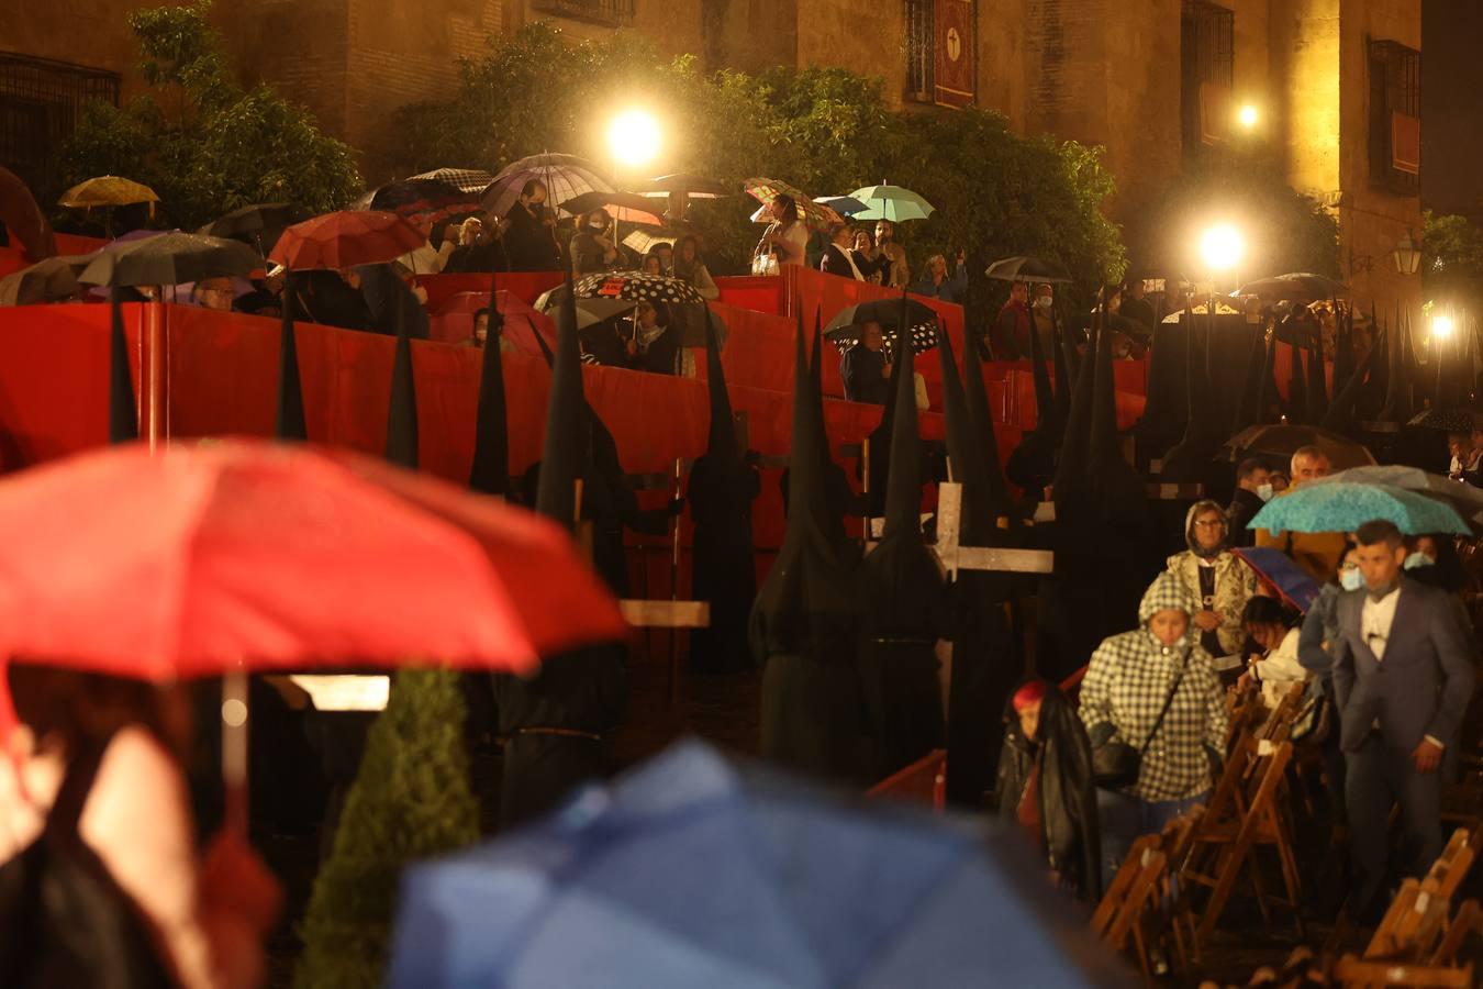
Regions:
<instances>
[{"instance_id":1,"label":"small conical green shrub between red and blue foreground umbrellas","mask_svg":"<svg viewBox=\"0 0 1483 989\"><path fill-rule=\"evenodd\" d=\"M366 735L334 851L314 881L297 986L380 986L402 867L478 841L463 725L455 673L396 675Z\"/></svg>"}]
</instances>

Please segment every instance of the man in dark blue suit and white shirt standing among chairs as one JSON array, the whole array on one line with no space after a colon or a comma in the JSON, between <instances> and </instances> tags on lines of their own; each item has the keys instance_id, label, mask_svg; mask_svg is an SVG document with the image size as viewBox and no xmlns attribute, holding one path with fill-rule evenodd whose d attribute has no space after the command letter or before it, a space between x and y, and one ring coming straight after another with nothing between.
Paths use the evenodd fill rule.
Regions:
<instances>
[{"instance_id":1,"label":"man in dark blue suit and white shirt standing among chairs","mask_svg":"<svg viewBox=\"0 0 1483 989\"><path fill-rule=\"evenodd\" d=\"M1364 587L1338 602L1333 689L1348 761L1345 805L1355 885L1351 915L1384 907L1387 832L1401 811L1401 860L1422 875L1441 853L1441 755L1473 697L1467 618L1446 592L1403 577L1406 546L1391 522L1355 532Z\"/></svg>"}]
</instances>

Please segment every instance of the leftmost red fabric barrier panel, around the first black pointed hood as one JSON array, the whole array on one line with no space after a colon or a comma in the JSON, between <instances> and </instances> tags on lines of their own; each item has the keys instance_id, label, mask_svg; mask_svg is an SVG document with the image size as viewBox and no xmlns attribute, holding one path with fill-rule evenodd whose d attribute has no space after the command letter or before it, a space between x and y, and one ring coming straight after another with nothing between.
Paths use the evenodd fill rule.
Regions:
<instances>
[{"instance_id":1,"label":"leftmost red fabric barrier panel, around the first black pointed hood","mask_svg":"<svg viewBox=\"0 0 1483 989\"><path fill-rule=\"evenodd\" d=\"M144 305L123 307L135 394ZM108 442L105 305L0 307L0 469Z\"/></svg>"}]
</instances>

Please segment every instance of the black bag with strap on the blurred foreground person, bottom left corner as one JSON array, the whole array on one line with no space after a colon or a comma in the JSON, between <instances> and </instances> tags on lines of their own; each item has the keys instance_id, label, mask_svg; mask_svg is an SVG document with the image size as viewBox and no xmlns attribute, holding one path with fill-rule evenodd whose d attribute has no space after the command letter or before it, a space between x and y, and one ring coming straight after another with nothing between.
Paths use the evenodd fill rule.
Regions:
<instances>
[{"instance_id":1,"label":"black bag with strap on the blurred foreground person, bottom left corner","mask_svg":"<svg viewBox=\"0 0 1483 989\"><path fill-rule=\"evenodd\" d=\"M0 866L0 986L172 985L144 916L77 833L107 741L70 762L42 836Z\"/></svg>"}]
</instances>

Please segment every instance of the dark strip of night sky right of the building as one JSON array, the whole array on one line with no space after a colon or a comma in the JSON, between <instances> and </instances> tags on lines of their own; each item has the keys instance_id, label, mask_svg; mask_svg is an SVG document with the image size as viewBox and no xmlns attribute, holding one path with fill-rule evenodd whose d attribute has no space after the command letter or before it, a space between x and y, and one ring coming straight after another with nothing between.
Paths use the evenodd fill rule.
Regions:
<instances>
[{"instance_id":1,"label":"dark strip of night sky right of the building","mask_svg":"<svg viewBox=\"0 0 1483 989\"><path fill-rule=\"evenodd\" d=\"M1483 219L1483 3L1421 9L1422 206Z\"/></svg>"}]
</instances>

